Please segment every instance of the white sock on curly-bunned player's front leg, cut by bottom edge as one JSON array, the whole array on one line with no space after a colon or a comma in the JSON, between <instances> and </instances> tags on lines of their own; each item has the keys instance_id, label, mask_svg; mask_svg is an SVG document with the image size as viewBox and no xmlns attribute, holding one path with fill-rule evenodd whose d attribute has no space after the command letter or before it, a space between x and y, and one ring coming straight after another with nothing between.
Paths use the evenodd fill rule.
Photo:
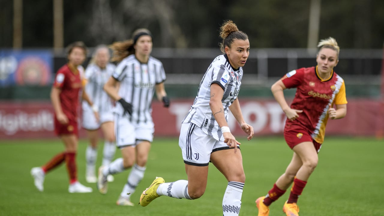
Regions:
<instances>
[{"instance_id":1,"label":"white sock on curly-bunned player's front leg, cut by bottom edge","mask_svg":"<svg viewBox=\"0 0 384 216\"><path fill-rule=\"evenodd\" d=\"M241 196L244 183L237 181L228 182L223 197L223 216L238 216L241 207Z\"/></svg>"}]
</instances>

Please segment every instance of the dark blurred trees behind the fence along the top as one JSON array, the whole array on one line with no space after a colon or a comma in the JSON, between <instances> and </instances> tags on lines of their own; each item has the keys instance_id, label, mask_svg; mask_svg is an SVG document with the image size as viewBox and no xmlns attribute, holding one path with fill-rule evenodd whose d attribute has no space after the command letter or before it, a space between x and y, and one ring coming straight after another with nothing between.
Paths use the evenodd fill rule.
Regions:
<instances>
[{"instance_id":1,"label":"dark blurred trees behind the fence along the top","mask_svg":"<svg viewBox=\"0 0 384 216\"><path fill-rule=\"evenodd\" d=\"M23 47L52 47L52 1L23 1ZM303 0L65 0L64 44L89 47L149 28L154 47L217 47L218 28L231 19L252 48L305 48L310 1ZM12 0L0 0L0 47L12 47ZM319 38L342 48L382 48L383 0L321 0Z\"/></svg>"}]
</instances>

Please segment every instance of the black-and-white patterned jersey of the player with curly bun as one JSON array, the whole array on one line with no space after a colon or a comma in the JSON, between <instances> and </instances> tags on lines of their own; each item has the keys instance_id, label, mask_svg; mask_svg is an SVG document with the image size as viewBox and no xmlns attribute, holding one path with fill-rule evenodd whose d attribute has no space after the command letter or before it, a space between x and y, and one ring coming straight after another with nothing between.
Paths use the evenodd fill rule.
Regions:
<instances>
[{"instance_id":1,"label":"black-and-white patterned jersey of the player with curly bun","mask_svg":"<svg viewBox=\"0 0 384 216\"><path fill-rule=\"evenodd\" d=\"M205 72L194 103L182 123L192 122L200 127L207 135L212 136L216 140L223 141L223 133L209 106L210 86L213 83L217 83L223 88L222 104L225 119L228 122L228 108L237 98L242 76L242 67L235 70L230 65L227 55L217 56L215 60L212 61L207 72Z\"/></svg>"}]
</instances>

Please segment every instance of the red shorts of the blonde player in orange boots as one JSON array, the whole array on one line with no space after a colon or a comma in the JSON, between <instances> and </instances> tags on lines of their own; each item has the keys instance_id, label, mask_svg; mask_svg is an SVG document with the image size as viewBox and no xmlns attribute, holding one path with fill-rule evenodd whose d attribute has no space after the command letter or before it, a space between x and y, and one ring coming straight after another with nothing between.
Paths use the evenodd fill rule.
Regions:
<instances>
[{"instance_id":1,"label":"red shorts of the blonde player in orange boots","mask_svg":"<svg viewBox=\"0 0 384 216\"><path fill-rule=\"evenodd\" d=\"M302 128L297 127L295 129L290 128L290 130L284 130L284 138L291 149L303 142L313 143L313 146L318 153L321 148L321 143L314 141L310 133Z\"/></svg>"}]
</instances>

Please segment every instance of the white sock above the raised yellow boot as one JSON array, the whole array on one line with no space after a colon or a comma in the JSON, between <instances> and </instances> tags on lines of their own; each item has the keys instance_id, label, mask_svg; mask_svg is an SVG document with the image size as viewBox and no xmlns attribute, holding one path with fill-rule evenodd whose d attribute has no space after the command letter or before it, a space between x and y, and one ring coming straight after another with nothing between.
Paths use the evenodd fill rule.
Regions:
<instances>
[{"instance_id":1,"label":"white sock above the raised yellow boot","mask_svg":"<svg viewBox=\"0 0 384 216\"><path fill-rule=\"evenodd\" d=\"M174 198L184 198L192 199L188 194L188 181L179 180L170 183L162 183L159 185L159 188L156 190L157 194L174 197Z\"/></svg>"}]
</instances>

